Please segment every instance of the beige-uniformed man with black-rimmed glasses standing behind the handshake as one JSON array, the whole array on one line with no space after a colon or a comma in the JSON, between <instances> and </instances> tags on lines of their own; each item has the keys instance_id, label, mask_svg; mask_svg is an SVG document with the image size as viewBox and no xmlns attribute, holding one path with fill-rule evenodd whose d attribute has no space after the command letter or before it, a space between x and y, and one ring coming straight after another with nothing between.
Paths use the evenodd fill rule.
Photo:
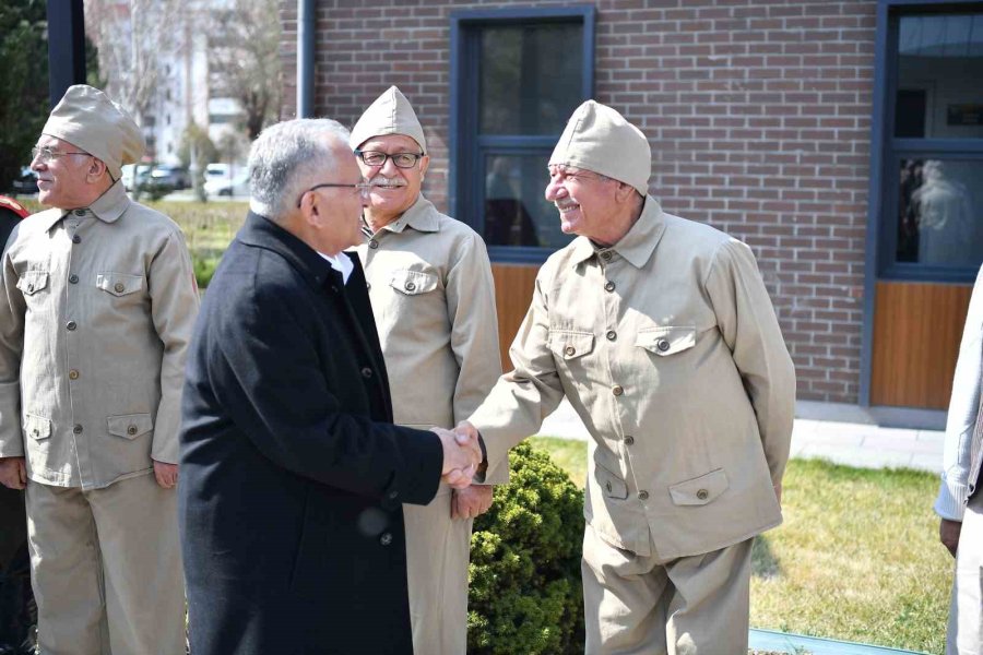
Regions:
<instances>
[{"instance_id":1,"label":"beige-uniformed man with black-rimmed glasses standing behind the handshake","mask_svg":"<svg viewBox=\"0 0 983 655\"><path fill-rule=\"evenodd\" d=\"M366 109L348 142L372 184L358 255L392 388L396 424L451 426L501 373L495 285L482 238L421 194L423 128L395 86ZM508 480L508 466L485 483ZM441 485L428 505L403 505L414 651L463 654L474 516L492 487Z\"/></svg>"}]
</instances>

